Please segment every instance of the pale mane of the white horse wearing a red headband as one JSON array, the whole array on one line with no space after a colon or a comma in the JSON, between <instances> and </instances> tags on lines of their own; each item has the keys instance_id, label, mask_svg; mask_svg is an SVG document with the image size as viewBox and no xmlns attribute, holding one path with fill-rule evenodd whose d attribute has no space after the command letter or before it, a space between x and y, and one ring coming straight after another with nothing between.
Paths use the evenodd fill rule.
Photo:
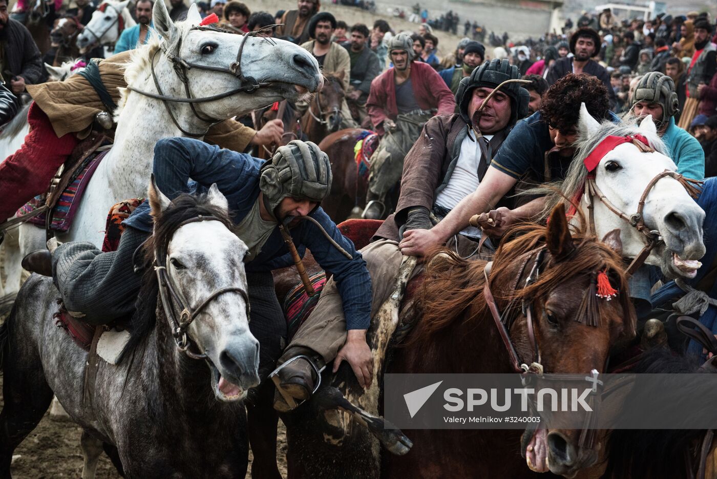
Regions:
<instances>
[{"instance_id":1,"label":"pale mane of the white horse wearing a red headband","mask_svg":"<svg viewBox=\"0 0 717 479\"><path fill-rule=\"evenodd\" d=\"M578 138L576 141L576 151L568 168L568 172L563 181L554 182L553 184L538 186L535 189L526 191L525 194L546 196L546 204L543 208L538 222L545 221L558 204L564 204L566 209L571 206L571 199L580 194L585 184L585 178L588 171L583 161L587 156L608 136L634 136L640 134L647 138L650 147L670 158L670 149L665 142L656 134L647 133L638 128L639 120L634 116L625 118L621 123L612 123L610 120L604 120L600 124L600 128L594 135L589 138Z\"/></svg>"}]
</instances>

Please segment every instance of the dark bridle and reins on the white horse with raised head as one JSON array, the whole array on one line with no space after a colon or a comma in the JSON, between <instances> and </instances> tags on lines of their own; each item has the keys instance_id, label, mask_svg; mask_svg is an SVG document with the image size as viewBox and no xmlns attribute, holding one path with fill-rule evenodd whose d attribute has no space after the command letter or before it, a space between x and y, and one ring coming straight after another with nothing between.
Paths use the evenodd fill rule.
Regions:
<instances>
[{"instance_id":1,"label":"dark bridle and reins on the white horse with raised head","mask_svg":"<svg viewBox=\"0 0 717 479\"><path fill-rule=\"evenodd\" d=\"M271 26L270 26L271 27ZM265 27L265 28L270 28ZM216 27L204 27L204 26L195 26L191 27L189 29L189 32L193 30L199 30L201 32L210 31L210 32L219 32L219 33L231 33L227 32L227 30L219 29ZM179 55L176 55L174 53L171 53L167 50L166 42L162 42L161 44L161 50L164 53L164 55L167 57L167 59L171 62L172 65L174 65L174 72L176 72L176 75L179 77L179 80L184 84L184 91L186 92L186 98L184 97L174 97L174 96L168 96L164 95L161 86L159 85L159 81L157 80L157 75L154 71L154 64L155 59L157 57L157 54L159 53L159 50L156 50L154 52L153 57L151 59L150 65L151 65L151 71L152 71L152 80L154 81L154 86L157 89L157 93L150 93L143 90L138 90L135 87L131 87L130 85L127 85L127 89L131 90L133 92L139 93L140 95L144 95L149 98L154 98L156 100L162 100L162 103L164 105L164 108L166 108L167 113L169 113L170 118L172 119L172 122L174 125L179 128L179 131L181 133L184 133L186 136L192 136L195 138L202 137L206 135L206 132L209 131L209 128L212 128L212 126L217 125L217 123L221 123L224 120L218 120L216 118L206 118L196 111L196 108L194 105L196 103L206 103L214 100L221 100L222 98L227 98L232 95L236 95L237 93L254 93L258 88L264 87L267 85L271 85L271 82L257 82L257 80L254 77L247 77L244 76L242 73L242 52L244 52L244 44L247 42L247 38L249 37L260 37L260 34L262 34L263 29L257 30L255 32L249 32L244 35L242 35L242 42L239 44L239 51L237 52L237 60L232 62L229 67L212 67L210 65L199 65L198 63L193 62L187 62L183 58L179 57ZM260 37L264 38L267 41L272 42L272 39L269 37ZM176 51L179 52L181 49L181 40L177 44ZM222 73L229 73L229 75L232 75L234 77L237 77L239 79L239 87L234 88L234 90L229 90L224 93L218 93L217 95L212 95L209 97L201 97L201 98L195 98L194 95L191 93L191 89L189 87L189 78L187 77L187 71L194 68L195 70L205 70L208 72L222 72ZM190 131L186 131L184 128L179 125L179 122L176 120L176 117L174 116L174 113L172 112L171 108L169 107L169 103L189 103L192 113L194 113L194 116L196 118L199 118L199 120L204 121L206 123L209 123L209 127L206 128L205 131L199 132L199 133L192 133Z\"/></svg>"}]
</instances>

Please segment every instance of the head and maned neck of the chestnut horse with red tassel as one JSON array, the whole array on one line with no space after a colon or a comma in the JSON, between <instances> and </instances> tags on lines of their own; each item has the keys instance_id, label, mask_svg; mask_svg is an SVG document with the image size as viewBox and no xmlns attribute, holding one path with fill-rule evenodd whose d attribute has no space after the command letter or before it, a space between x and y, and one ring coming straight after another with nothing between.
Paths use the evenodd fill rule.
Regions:
<instances>
[{"instance_id":1,"label":"head and maned neck of the chestnut horse with red tassel","mask_svg":"<svg viewBox=\"0 0 717 479\"><path fill-rule=\"evenodd\" d=\"M509 237L515 239L495 252L488 283L519 362L551 374L604 372L610 348L635 336L617 234L606 244L584 230L571 232L564 208L556 207L548 226L523 224ZM516 372L484 297L485 265L450 252L429 263L413 346L433 364L412 372ZM581 445L580 433L530 430L521 452L533 470L571 477L598 459Z\"/></svg>"}]
</instances>

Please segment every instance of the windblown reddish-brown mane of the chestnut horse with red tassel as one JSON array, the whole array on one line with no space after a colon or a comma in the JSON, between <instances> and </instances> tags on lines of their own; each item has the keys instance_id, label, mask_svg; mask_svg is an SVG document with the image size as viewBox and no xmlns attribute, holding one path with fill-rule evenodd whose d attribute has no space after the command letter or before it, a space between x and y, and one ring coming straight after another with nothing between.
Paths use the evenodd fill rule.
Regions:
<instances>
[{"instance_id":1,"label":"windblown reddish-brown mane of the chestnut horse with red tassel","mask_svg":"<svg viewBox=\"0 0 717 479\"><path fill-rule=\"evenodd\" d=\"M495 252L490 273L491 285L494 278L504 278L511 274L514 276L516 265L524 264L529 255L545 245L546 232L544 225L526 223L505 234ZM607 245L598 242L593 234L587 234L584 227L574 228L572 238L576 250L568 259L552 263L528 287L514 290L493 288L495 299L512 304L523 298L538 298L575 275L607 268L610 283L619 290L619 300L625 312L625 331L634 333L637 320L627 294L627 276L623 271L622 258ZM420 327L414 332L414 343L429 346L436 343L435 335L455 326L457 321L470 324L490 315L488 304L483 300L485 264L484 261L464 260L445 249L431 257L419 295L423 318ZM467 314L467 310L470 314Z\"/></svg>"}]
</instances>

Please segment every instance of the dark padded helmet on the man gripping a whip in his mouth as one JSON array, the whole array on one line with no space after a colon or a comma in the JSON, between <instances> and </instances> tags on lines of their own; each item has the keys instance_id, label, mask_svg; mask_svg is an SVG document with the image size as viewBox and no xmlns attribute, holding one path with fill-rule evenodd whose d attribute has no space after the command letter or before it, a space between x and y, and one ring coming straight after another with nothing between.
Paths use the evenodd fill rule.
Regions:
<instances>
[{"instance_id":1,"label":"dark padded helmet on the man gripping a whip in his mouth","mask_svg":"<svg viewBox=\"0 0 717 479\"><path fill-rule=\"evenodd\" d=\"M468 116L468 104L473 97L473 90L478 87L495 88L505 80L515 80L520 77L521 73L518 71L518 67L511 65L508 60L496 58L490 62L484 62L483 65L473 70L470 77L460 80L460 85L455 93L455 103L458 105L461 118L469 125L472 123ZM531 95L518 83L509 83L500 91L511 98L511 120L508 122L508 126L511 127L528 115L528 103L531 101Z\"/></svg>"}]
</instances>

